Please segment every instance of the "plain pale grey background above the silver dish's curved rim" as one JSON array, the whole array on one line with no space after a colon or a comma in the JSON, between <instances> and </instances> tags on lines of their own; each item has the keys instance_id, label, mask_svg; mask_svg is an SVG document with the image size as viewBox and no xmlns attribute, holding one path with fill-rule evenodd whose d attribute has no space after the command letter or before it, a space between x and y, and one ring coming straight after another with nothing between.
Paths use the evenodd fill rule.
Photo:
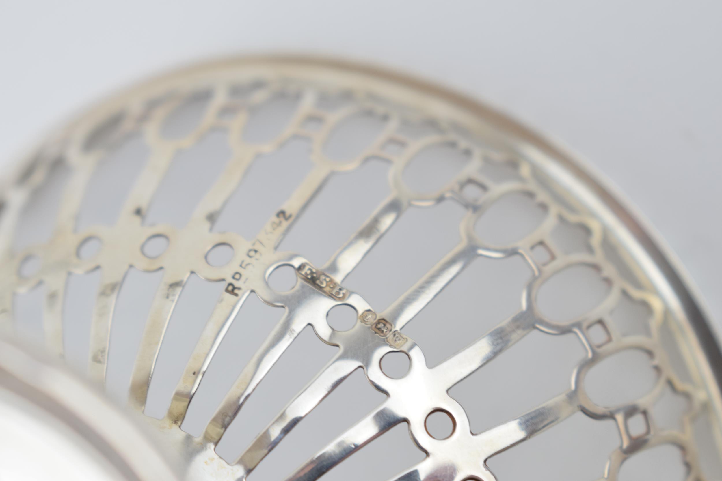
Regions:
<instances>
[{"instance_id":1,"label":"plain pale grey background above the silver dish's curved rim","mask_svg":"<svg viewBox=\"0 0 722 481\"><path fill-rule=\"evenodd\" d=\"M131 81L243 52L409 71L590 160L681 257L722 329L720 1L0 3L0 169Z\"/></svg>"}]
</instances>

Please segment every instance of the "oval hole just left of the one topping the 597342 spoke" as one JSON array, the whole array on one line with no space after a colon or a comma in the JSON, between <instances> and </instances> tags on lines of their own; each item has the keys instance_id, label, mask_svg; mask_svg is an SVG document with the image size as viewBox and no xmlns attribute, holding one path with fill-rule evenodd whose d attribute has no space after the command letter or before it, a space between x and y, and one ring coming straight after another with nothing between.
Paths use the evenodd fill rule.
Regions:
<instances>
[{"instance_id":1,"label":"oval hole just left of the one topping the 597342 spoke","mask_svg":"<svg viewBox=\"0 0 722 481\"><path fill-rule=\"evenodd\" d=\"M279 93L251 109L243 131L243 140L265 144L279 136L296 111L300 95Z\"/></svg>"}]
</instances>

